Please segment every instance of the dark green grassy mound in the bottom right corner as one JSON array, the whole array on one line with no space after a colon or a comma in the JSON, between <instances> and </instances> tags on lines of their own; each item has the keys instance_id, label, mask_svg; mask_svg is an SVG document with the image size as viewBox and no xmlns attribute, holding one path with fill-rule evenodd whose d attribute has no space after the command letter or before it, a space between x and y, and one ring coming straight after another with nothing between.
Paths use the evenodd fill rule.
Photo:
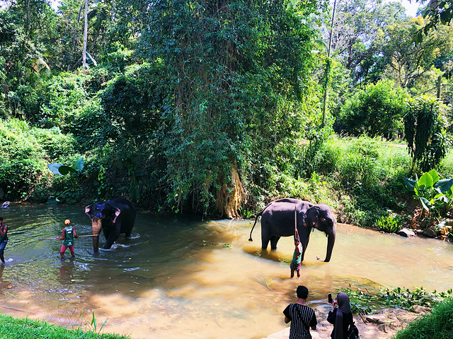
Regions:
<instances>
[{"instance_id":1,"label":"dark green grassy mound in the bottom right corner","mask_svg":"<svg viewBox=\"0 0 453 339\"><path fill-rule=\"evenodd\" d=\"M451 339L453 338L453 299L437 304L430 314L409 323L395 339Z\"/></svg>"}]
</instances>

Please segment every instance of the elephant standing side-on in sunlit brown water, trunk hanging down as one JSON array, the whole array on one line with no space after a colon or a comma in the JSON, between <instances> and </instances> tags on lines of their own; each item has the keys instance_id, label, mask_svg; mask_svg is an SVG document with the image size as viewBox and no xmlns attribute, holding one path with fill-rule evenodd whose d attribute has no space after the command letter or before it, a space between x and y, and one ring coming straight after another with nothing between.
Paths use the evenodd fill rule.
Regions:
<instances>
[{"instance_id":1,"label":"elephant standing side-on in sunlit brown water, trunk hanging down","mask_svg":"<svg viewBox=\"0 0 453 339\"><path fill-rule=\"evenodd\" d=\"M302 244L302 260L304 260L306 247L309 245L310 232L316 228L326 233L327 253L324 261L330 261L336 237L336 218L331 208L324 203L315 205L309 201L294 198L273 201L256 215L248 241L253 241L253 228L258 217L261 216L262 248L267 249L270 242L270 249L277 249L280 237L294 236L294 209L297 210L297 232L299 232Z\"/></svg>"}]
</instances>

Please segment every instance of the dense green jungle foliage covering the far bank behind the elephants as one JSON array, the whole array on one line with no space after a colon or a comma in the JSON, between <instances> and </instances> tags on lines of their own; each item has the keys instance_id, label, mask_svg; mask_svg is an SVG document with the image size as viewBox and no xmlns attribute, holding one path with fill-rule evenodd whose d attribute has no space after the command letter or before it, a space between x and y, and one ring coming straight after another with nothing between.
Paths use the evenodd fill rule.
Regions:
<instances>
[{"instance_id":1,"label":"dense green jungle foliage covering the far bank behind the elephants","mask_svg":"<svg viewBox=\"0 0 453 339\"><path fill-rule=\"evenodd\" d=\"M18 0L0 10L0 198L127 196L220 215L220 193L248 217L293 196L394 230L406 220L410 196L394 192L411 156L379 137L408 140L413 173L451 172L453 85L439 80L451 28L415 44L426 21L401 4L342 1L328 58L323 1L88 1L82 68L83 5ZM361 137L332 138L333 129ZM45 167L80 157L83 169L67 176Z\"/></svg>"}]
</instances>

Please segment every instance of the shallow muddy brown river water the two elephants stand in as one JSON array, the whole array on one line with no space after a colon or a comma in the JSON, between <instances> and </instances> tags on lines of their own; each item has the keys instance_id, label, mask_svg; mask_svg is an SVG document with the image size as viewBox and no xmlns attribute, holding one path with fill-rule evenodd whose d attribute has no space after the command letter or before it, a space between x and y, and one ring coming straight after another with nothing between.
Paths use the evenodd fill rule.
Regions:
<instances>
[{"instance_id":1,"label":"shallow muddy brown river water the two elephants stand in","mask_svg":"<svg viewBox=\"0 0 453 339\"><path fill-rule=\"evenodd\" d=\"M309 287L311 307L327 309L340 287L425 287L453 282L453 244L404 238L339 224L330 263L327 239L314 231L301 268L289 279L294 251L282 238L261 251L253 220L205 220L139 210L131 239L93 254L91 238L75 241L76 258L59 258L65 219L91 234L84 206L11 204L0 210L9 227L0 266L0 311L64 326L96 317L103 331L132 338L263 338L287 327L282 310L297 285ZM101 236L100 246L105 239ZM69 252L67 253L67 256Z\"/></svg>"}]
</instances>

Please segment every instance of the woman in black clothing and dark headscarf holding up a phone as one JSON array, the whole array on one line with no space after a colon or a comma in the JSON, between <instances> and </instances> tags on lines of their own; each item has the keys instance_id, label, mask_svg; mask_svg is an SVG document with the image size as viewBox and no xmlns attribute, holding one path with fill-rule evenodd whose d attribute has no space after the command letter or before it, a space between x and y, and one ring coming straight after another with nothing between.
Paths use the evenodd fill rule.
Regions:
<instances>
[{"instance_id":1,"label":"woman in black clothing and dark headscarf holding up a phone","mask_svg":"<svg viewBox=\"0 0 453 339\"><path fill-rule=\"evenodd\" d=\"M351 304L346 293L338 293L337 299L332 302L333 309L328 312L327 321L333 324L332 339L345 339L348 328L352 325Z\"/></svg>"}]
</instances>

